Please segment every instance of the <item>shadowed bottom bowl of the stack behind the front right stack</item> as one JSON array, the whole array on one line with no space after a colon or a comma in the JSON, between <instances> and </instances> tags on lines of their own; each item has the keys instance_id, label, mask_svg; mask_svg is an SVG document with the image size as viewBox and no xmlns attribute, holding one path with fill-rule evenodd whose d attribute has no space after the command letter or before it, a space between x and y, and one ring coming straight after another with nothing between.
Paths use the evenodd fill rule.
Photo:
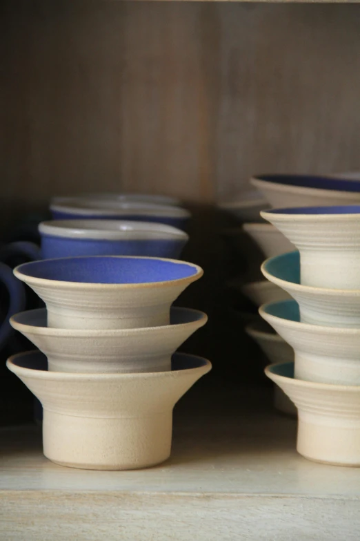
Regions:
<instances>
[{"instance_id":1,"label":"shadowed bottom bowl of the stack behind the front right stack","mask_svg":"<svg viewBox=\"0 0 360 541\"><path fill-rule=\"evenodd\" d=\"M259 348L266 355L270 363L294 360L294 351L290 345L279 334L264 329L261 321L260 323L246 325L245 332L259 345ZM297 415L297 409L292 404L292 401L277 386L274 388L274 408L287 415Z\"/></svg>"}]
</instances>

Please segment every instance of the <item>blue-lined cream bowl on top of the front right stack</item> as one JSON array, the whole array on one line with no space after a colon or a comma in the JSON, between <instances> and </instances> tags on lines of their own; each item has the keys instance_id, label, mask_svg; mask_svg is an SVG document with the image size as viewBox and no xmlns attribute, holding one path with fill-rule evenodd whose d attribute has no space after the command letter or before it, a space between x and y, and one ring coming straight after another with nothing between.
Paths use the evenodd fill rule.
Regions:
<instances>
[{"instance_id":1,"label":"blue-lined cream bowl on top of the front right stack","mask_svg":"<svg viewBox=\"0 0 360 541\"><path fill-rule=\"evenodd\" d=\"M360 205L262 212L300 252L303 285L360 289Z\"/></svg>"}]
</instances>

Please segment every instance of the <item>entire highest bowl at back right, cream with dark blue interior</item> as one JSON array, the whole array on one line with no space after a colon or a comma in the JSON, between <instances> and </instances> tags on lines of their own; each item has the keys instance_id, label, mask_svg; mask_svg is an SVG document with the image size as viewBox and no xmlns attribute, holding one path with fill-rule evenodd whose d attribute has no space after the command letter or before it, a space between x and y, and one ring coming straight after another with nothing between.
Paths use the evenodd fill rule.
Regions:
<instances>
[{"instance_id":1,"label":"entire highest bowl at back right, cream with dark blue interior","mask_svg":"<svg viewBox=\"0 0 360 541\"><path fill-rule=\"evenodd\" d=\"M314 175L259 175L250 180L271 207L360 203L360 182Z\"/></svg>"}]
</instances>

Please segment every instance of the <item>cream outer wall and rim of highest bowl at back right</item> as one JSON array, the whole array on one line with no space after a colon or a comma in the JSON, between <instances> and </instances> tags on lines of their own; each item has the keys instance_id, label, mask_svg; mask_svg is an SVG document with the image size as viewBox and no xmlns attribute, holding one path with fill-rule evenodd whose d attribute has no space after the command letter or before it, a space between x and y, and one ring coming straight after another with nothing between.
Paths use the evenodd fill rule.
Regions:
<instances>
[{"instance_id":1,"label":"cream outer wall and rim of highest bowl at back right","mask_svg":"<svg viewBox=\"0 0 360 541\"><path fill-rule=\"evenodd\" d=\"M273 176L275 178L282 175ZM329 178L332 179L331 177ZM343 182L346 182L346 179L343 179ZM313 207L314 205L352 205L357 202L360 203L360 191L294 186L291 184L281 184L275 182L275 180L274 182L268 182L268 180L261 180L261 177L251 178L250 184L257 188L269 202L270 207L274 208Z\"/></svg>"}]
</instances>

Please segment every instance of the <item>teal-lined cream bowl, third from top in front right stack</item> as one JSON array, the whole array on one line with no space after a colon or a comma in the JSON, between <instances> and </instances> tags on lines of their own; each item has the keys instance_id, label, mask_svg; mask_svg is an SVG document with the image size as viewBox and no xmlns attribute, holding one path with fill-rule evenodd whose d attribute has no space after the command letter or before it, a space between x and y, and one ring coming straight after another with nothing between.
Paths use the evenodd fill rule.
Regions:
<instances>
[{"instance_id":1,"label":"teal-lined cream bowl, third from top in front right stack","mask_svg":"<svg viewBox=\"0 0 360 541\"><path fill-rule=\"evenodd\" d=\"M263 305L259 313L294 348L295 378L360 385L360 329L301 323L296 301Z\"/></svg>"}]
</instances>

